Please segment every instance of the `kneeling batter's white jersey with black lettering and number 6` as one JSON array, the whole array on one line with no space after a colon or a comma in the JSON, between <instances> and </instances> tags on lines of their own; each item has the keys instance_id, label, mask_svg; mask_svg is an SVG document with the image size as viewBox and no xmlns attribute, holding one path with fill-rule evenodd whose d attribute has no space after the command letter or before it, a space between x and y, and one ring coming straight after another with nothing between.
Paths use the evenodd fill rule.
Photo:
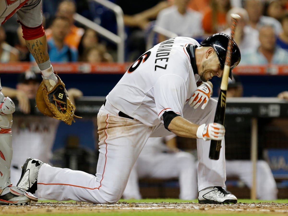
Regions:
<instances>
[{"instance_id":1,"label":"kneeling batter's white jersey with black lettering and number 6","mask_svg":"<svg viewBox=\"0 0 288 216\"><path fill-rule=\"evenodd\" d=\"M147 126L163 123L165 111L183 116L183 107L197 88L187 54L189 37L163 41L141 55L107 96L107 102Z\"/></svg>"}]
</instances>

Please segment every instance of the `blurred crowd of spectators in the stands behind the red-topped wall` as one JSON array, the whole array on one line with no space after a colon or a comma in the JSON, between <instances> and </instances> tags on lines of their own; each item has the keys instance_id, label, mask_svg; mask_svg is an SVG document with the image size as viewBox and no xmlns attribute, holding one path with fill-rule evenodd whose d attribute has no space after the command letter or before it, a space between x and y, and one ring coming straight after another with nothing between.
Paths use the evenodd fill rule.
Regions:
<instances>
[{"instance_id":1,"label":"blurred crowd of spectators in the stands behind the red-topped wall","mask_svg":"<svg viewBox=\"0 0 288 216\"><path fill-rule=\"evenodd\" d=\"M123 11L125 61L145 52L147 38L155 26L199 42L213 33L230 34L230 14L241 16L235 31L240 47L240 65L288 63L287 0L110 0ZM43 26L52 62L117 61L116 46L85 23L75 22L78 13L117 34L115 14L93 0L43 0ZM0 62L33 61L26 48L17 17L0 28ZM168 34L169 35L169 34ZM153 43L167 39L155 34Z\"/></svg>"}]
</instances>

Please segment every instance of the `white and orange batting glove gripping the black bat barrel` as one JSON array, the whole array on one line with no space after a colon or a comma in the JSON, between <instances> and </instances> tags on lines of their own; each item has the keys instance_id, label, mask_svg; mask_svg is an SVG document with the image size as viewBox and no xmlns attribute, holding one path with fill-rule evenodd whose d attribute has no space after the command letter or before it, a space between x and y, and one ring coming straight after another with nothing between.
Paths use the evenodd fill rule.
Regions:
<instances>
[{"instance_id":1,"label":"white and orange batting glove gripping the black bat barrel","mask_svg":"<svg viewBox=\"0 0 288 216\"><path fill-rule=\"evenodd\" d=\"M204 140L222 140L225 135L225 128L222 124L219 123L209 123L207 124L201 124L198 129L196 136L198 138L204 139Z\"/></svg>"}]
</instances>

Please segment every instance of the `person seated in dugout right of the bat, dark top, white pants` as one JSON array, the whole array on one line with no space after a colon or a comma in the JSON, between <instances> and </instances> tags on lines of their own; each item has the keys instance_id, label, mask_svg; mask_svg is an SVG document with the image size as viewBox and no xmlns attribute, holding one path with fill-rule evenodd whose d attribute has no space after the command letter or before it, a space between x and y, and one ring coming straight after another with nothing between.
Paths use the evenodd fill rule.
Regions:
<instances>
[{"instance_id":1,"label":"person seated in dugout right of the bat, dark top, white pants","mask_svg":"<svg viewBox=\"0 0 288 216\"><path fill-rule=\"evenodd\" d=\"M229 79L227 97L242 97L242 83L237 75ZM250 160L250 118L236 116L225 119L225 157L226 175L238 177L249 188L252 187L252 164ZM241 128L241 133L239 133ZM261 129L260 129L261 130ZM268 163L262 159L263 148L258 146L256 173L257 198L260 200L277 199L277 186Z\"/></svg>"}]
</instances>

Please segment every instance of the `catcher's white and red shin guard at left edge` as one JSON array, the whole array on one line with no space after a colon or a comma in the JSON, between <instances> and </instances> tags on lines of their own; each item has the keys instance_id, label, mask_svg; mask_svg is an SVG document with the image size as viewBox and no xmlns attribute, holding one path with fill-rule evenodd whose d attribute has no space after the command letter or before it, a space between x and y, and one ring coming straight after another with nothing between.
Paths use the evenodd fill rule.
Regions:
<instances>
[{"instance_id":1,"label":"catcher's white and red shin guard at left edge","mask_svg":"<svg viewBox=\"0 0 288 216\"><path fill-rule=\"evenodd\" d=\"M12 113L15 105L9 97L0 92L0 194L11 185L10 165L12 160Z\"/></svg>"}]
</instances>

